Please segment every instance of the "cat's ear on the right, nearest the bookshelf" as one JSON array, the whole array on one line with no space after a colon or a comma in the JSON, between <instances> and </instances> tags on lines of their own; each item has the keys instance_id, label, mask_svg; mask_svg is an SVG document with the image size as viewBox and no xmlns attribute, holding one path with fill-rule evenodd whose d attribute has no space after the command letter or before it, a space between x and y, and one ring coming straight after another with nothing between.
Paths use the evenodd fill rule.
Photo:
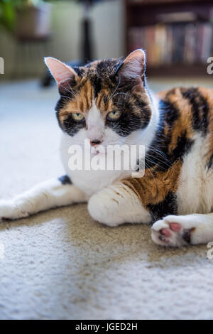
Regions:
<instances>
[{"instance_id":1,"label":"cat's ear on the right, nearest the bookshelf","mask_svg":"<svg viewBox=\"0 0 213 334\"><path fill-rule=\"evenodd\" d=\"M138 49L133 51L126 57L122 63L119 74L129 80L144 80L146 68L146 55L143 50Z\"/></svg>"}]
</instances>

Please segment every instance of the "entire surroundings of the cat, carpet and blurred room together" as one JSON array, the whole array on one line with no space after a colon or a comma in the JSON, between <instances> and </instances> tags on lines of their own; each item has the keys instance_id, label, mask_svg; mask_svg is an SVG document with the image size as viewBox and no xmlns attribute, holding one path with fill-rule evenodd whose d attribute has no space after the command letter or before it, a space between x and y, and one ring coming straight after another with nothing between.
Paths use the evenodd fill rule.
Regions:
<instances>
[{"instance_id":1,"label":"entire surroundings of the cat, carpet and blurred room together","mask_svg":"<svg viewBox=\"0 0 213 334\"><path fill-rule=\"evenodd\" d=\"M144 48L154 92L213 88L212 8L207 0L0 0L0 200L65 173L58 90L44 56L82 64ZM86 205L1 223L3 240L0 319L212 318L205 245L157 249L150 227L108 229Z\"/></svg>"}]
</instances>

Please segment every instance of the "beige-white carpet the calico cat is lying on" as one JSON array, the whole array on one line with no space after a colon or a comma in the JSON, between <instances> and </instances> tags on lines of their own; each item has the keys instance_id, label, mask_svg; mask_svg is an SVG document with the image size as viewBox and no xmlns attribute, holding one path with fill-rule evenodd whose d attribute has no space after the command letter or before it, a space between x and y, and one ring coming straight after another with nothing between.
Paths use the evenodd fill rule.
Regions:
<instances>
[{"instance_id":1,"label":"beige-white carpet the calico cat is lying on","mask_svg":"<svg viewBox=\"0 0 213 334\"><path fill-rule=\"evenodd\" d=\"M56 96L36 82L0 85L0 198L62 175ZM86 205L1 223L2 245L0 319L213 318L206 245L163 249L150 227L104 227Z\"/></svg>"}]
</instances>

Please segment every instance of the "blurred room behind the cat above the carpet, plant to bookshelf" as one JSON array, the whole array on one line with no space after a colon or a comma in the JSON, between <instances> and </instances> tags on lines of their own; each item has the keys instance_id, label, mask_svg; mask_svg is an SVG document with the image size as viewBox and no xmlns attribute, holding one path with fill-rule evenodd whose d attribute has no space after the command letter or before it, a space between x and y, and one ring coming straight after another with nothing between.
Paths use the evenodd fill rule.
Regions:
<instances>
[{"instance_id":1,"label":"blurred room behind the cat above the carpet, plant to bookshelf","mask_svg":"<svg viewBox=\"0 0 213 334\"><path fill-rule=\"evenodd\" d=\"M0 80L43 76L43 56L88 60L146 50L150 76L207 76L211 0L0 0Z\"/></svg>"}]
</instances>

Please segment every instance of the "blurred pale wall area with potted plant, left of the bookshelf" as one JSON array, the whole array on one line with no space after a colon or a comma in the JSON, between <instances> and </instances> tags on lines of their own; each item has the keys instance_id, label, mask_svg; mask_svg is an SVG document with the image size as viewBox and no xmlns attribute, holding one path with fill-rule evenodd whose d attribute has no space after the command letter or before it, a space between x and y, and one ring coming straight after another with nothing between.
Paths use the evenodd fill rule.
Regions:
<instances>
[{"instance_id":1,"label":"blurred pale wall area with potted plant, left of the bookshelf","mask_svg":"<svg viewBox=\"0 0 213 334\"><path fill-rule=\"evenodd\" d=\"M43 57L62 61L124 54L122 0L0 0L4 78L38 77Z\"/></svg>"}]
</instances>

